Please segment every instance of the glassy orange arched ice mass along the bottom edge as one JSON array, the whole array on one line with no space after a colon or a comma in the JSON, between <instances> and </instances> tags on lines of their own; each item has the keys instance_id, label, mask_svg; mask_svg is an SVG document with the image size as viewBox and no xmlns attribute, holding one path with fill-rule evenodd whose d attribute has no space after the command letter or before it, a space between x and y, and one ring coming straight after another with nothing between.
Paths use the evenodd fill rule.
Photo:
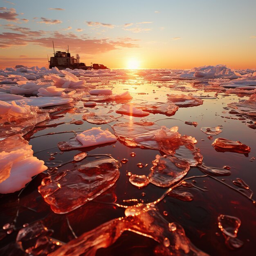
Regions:
<instances>
[{"instance_id":1,"label":"glassy orange arched ice mass along the bottom edge","mask_svg":"<svg viewBox=\"0 0 256 256\"><path fill-rule=\"evenodd\" d=\"M127 230L157 241L159 247L155 252L163 256L208 255L190 242L182 226L168 223L154 205L128 207L125 214L126 217L110 220L82 234L49 256L95 256L98 249L109 247Z\"/></svg>"}]
</instances>

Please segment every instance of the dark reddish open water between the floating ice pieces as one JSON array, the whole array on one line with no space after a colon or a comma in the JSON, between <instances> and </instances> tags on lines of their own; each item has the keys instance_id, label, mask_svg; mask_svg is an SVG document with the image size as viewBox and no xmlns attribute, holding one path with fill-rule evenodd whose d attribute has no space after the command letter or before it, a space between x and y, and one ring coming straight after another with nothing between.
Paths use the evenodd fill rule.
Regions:
<instances>
[{"instance_id":1,"label":"dark reddish open water between the floating ice pieces","mask_svg":"<svg viewBox=\"0 0 256 256\"><path fill-rule=\"evenodd\" d=\"M83 107L82 101L75 101L74 104L63 106L64 109L67 108L67 111L61 113L61 117L54 117L55 123L63 122L62 124L38 128L38 130L34 130L34 134L31 132L27 139L29 144L32 145L34 155L44 160L50 168L57 167L59 173L67 170L70 172L80 164L88 164L92 160L101 161L101 159L106 158L106 154L111 155L121 163L118 180L92 201L85 204L81 203L81 207L65 214L53 213L49 204L38 193L38 186L42 179L47 177L46 171L36 176L19 197L19 192L2 195L0 226L3 227L7 223L14 223L14 225L11 226L11 229L0 230L0 238L2 239L0 240L0 247L4 248L8 244L13 244L24 223L31 225L31 223L42 220L47 229L53 230L51 238L61 243L67 243L75 236L79 237L85 232L97 229L97 227L110 220L125 217L124 210L127 208L124 207L138 204L138 202L143 204L154 202L158 209L157 214L159 213L166 220L166 230L176 234L177 230L181 230L178 225L181 225L186 236L203 252L212 256L252 255L256 242L256 204L254 195L251 193L251 191L256 190L256 176L254 175L256 169L256 161L254 160L256 157L255 130L249 126L251 120L247 116L241 116L245 112L244 109L249 110L250 114L253 113L252 104L248 108L243 106L243 109L239 112L229 113L231 110L229 106L236 106L236 104L229 106L228 104L238 102L241 98L236 94L226 95L224 93L215 97L216 90L207 87L209 86L208 81L200 82L200 80L197 80L196 83L193 80L175 79L171 81L150 81L146 77L130 76L129 79L102 77L101 84L97 85L99 89L110 88L116 94L129 90L133 97L132 101L135 101L136 106L139 105L139 101L150 102L150 114L142 118L127 115L120 116L115 111L121 107L123 102L97 101L96 107L86 108L89 112L96 113L101 117L95 120L94 114L86 115L85 108L80 108ZM154 102L166 103L171 94L187 95L189 92L186 91L193 91L193 96L200 95L203 104L187 107L187 104L192 102L189 98L186 102L183 101L186 104L180 103L180 106L183 107L180 107L176 112L174 111L174 115L165 115L164 113L171 112L166 112L167 109L164 105L161 106L161 112L155 110L157 114L153 114L152 106ZM169 94L168 97L167 94ZM209 96L207 96L208 94ZM243 99L248 99L248 97ZM90 98L90 100L92 99ZM200 101L193 103L198 105ZM157 106L157 104L155 105ZM145 111L145 108L144 106L143 111ZM84 115L86 115L86 118ZM81 121L82 119L84 121ZM172 191L168 191L168 187L162 188L153 184L137 187L131 184L129 179L143 177L146 180L156 155L164 155L162 151L159 152L159 149L153 150L148 146L134 147L131 142L127 145L122 140L118 140L114 144L103 144L70 151L62 151L57 146L59 142L69 141L70 138L75 136L73 132L66 131L79 132L100 126L101 129L108 128L110 132L114 133L111 128L114 124L128 123L133 127L134 122L140 122L141 120L155 123L160 127L178 126L178 132L181 136L195 137L197 141L195 147L200 150L200 154L203 156L204 168L198 168L196 161L191 162L192 167L183 177L183 179L188 179L186 180L187 183L180 184ZM188 122L188 120L192 121ZM211 133L213 141L220 137L230 141L240 141L241 144L250 147L250 152L248 153L247 150L245 152L247 154L243 154L244 152L240 153L240 150L234 150L233 152L215 150L211 145L213 141L207 139L209 135L200 130L202 127L220 127L221 136L215 134L215 132ZM126 135L124 134L124 136ZM33 136L33 138L30 138L30 136ZM187 149L188 152L194 152L193 150L191 151L191 148ZM193 155L188 154L184 148L181 148L180 153L177 150L177 155L186 159L193 158ZM54 159L49 160L53 157ZM72 162L74 159L80 162ZM230 168L223 168L223 166L229 166ZM97 175L101 174L100 172L97 173ZM90 173L87 176L90 176ZM58 184L62 185L61 182L58 182ZM56 183L56 189L61 191L58 184ZM192 186L186 184L192 184ZM65 196L68 196L68 193ZM65 200L64 195L63 200ZM63 212L65 211L63 210ZM153 214L155 213L153 212ZM218 217L221 215L233 216L240 220L241 224L236 238L225 237L227 234L223 235L218 227ZM157 222L157 225L159 223L162 222ZM7 228L7 226L4 227ZM148 230L146 231L148 232ZM144 230L145 233L146 231ZM97 234L104 234L101 232L103 231ZM217 236L216 233L219 233L220 236ZM135 234L134 232L124 231L115 243L109 243L106 249L98 249L96 255L120 255L120 252L124 255L140 255L140 252L143 252L143 255L155 255L155 250L160 251L159 245L169 248L173 244L169 236L161 237L162 240L159 242L157 239L153 240L150 236L141 236L139 232ZM143 248L142 251L141 248ZM188 248L186 247L184 250L187 252ZM13 248L9 247L4 252L11 252L12 250Z\"/></svg>"}]
</instances>

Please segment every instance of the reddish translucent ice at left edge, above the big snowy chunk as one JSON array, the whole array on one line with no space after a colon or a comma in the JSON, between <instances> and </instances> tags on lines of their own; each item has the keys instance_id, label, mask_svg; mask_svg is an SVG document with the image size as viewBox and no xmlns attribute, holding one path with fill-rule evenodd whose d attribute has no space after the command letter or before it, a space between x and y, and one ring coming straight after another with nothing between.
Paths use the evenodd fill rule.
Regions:
<instances>
[{"instance_id":1,"label":"reddish translucent ice at left edge, above the big snowy chunk","mask_svg":"<svg viewBox=\"0 0 256 256\"><path fill-rule=\"evenodd\" d=\"M49 119L49 114L38 107L16 105L15 101L0 101L0 137L14 134L24 135L42 121Z\"/></svg>"}]
</instances>

